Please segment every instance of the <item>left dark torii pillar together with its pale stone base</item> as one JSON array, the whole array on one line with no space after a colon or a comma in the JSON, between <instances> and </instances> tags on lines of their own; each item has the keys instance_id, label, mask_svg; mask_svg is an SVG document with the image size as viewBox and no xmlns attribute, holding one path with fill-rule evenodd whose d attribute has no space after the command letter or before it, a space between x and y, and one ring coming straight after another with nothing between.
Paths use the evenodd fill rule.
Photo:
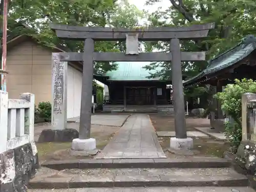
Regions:
<instances>
[{"instance_id":1,"label":"left dark torii pillar together with its pale stone base","mask_svg":"<svg viewBox=\"0 0 256 192\"><path fill-rule=\"evenodd\" d=\"M95 155L96 140L91 138L91 113L92 113L92 92L93 92L93 52L94 40L84 40L83 70L82 70L82 95L79 138L73 139L73 155Z\"/></svg>"}]
</instances>

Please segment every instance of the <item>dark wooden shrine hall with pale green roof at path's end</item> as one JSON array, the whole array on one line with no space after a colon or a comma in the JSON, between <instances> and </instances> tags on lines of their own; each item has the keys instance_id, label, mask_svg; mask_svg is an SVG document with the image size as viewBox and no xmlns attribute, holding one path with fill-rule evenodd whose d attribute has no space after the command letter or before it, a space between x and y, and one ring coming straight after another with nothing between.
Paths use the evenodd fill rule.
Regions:
<instances>
[{"instance_id":1,"label":"dark wooden shrine hall with pale green roof at path's end","mask_svg":"<svg viewBox=\"0 0 256 192\"><path fill-rule=\"evenodd\" d=\"M151 71L144 69L150 62L116 63L117 70L94 75L109 89L103 111L173 112L172 81L150 77L161 68Z\"/></svg>"}]
</instances>

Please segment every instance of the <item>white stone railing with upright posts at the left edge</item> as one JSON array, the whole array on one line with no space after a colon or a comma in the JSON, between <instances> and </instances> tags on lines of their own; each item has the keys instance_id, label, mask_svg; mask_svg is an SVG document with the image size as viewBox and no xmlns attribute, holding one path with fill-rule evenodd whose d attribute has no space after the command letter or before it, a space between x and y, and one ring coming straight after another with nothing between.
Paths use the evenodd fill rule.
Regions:
<instances>
[{"instance_id":1,"label":"white stone railing with upright posts at the left edge","mask_svg":"<svg viewBox=\"0 0 256 192\"><path fill-rule=\"evenodd\" d=\"M8 92L0 91L0 154L34 141L34 111L34 94L8 99Z\"/></svg>"}]
</instances>

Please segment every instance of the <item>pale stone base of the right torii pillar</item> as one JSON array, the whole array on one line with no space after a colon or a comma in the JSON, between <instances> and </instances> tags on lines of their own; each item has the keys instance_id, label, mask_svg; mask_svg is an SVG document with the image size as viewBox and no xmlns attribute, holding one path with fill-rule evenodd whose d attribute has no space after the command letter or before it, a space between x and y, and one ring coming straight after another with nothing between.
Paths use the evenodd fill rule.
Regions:
<instances>
[{"instance_id":1,"label":"pale stone base of the right torii pillar","mask_svg":"<svg viewBox=\"0 0 256 192\"><path fill-rule=\"evenodd\" d=\"M192 150L193 145L193 139L190 137L186 139L179 139L176 137L170 138L170 148L173 148L174 150Z\"/></svg>"}]
</instances>

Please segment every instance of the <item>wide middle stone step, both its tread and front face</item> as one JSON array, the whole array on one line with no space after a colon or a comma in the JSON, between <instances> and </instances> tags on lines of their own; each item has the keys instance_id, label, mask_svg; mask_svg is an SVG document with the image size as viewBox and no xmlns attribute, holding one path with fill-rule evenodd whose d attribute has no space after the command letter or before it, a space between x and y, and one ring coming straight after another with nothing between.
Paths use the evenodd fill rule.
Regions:
<instances>
[{"instance_id":1,"label":"wide middle stone step, both its tread and front face","mask_svg":"<svg viewBox=\"0 0 256 192\"><path fill-rule=\"evenodd\" d=\"M29 188L248 186L247 177L232 168L46 169L39 170Z\"/></svg>"}]
</instances>

